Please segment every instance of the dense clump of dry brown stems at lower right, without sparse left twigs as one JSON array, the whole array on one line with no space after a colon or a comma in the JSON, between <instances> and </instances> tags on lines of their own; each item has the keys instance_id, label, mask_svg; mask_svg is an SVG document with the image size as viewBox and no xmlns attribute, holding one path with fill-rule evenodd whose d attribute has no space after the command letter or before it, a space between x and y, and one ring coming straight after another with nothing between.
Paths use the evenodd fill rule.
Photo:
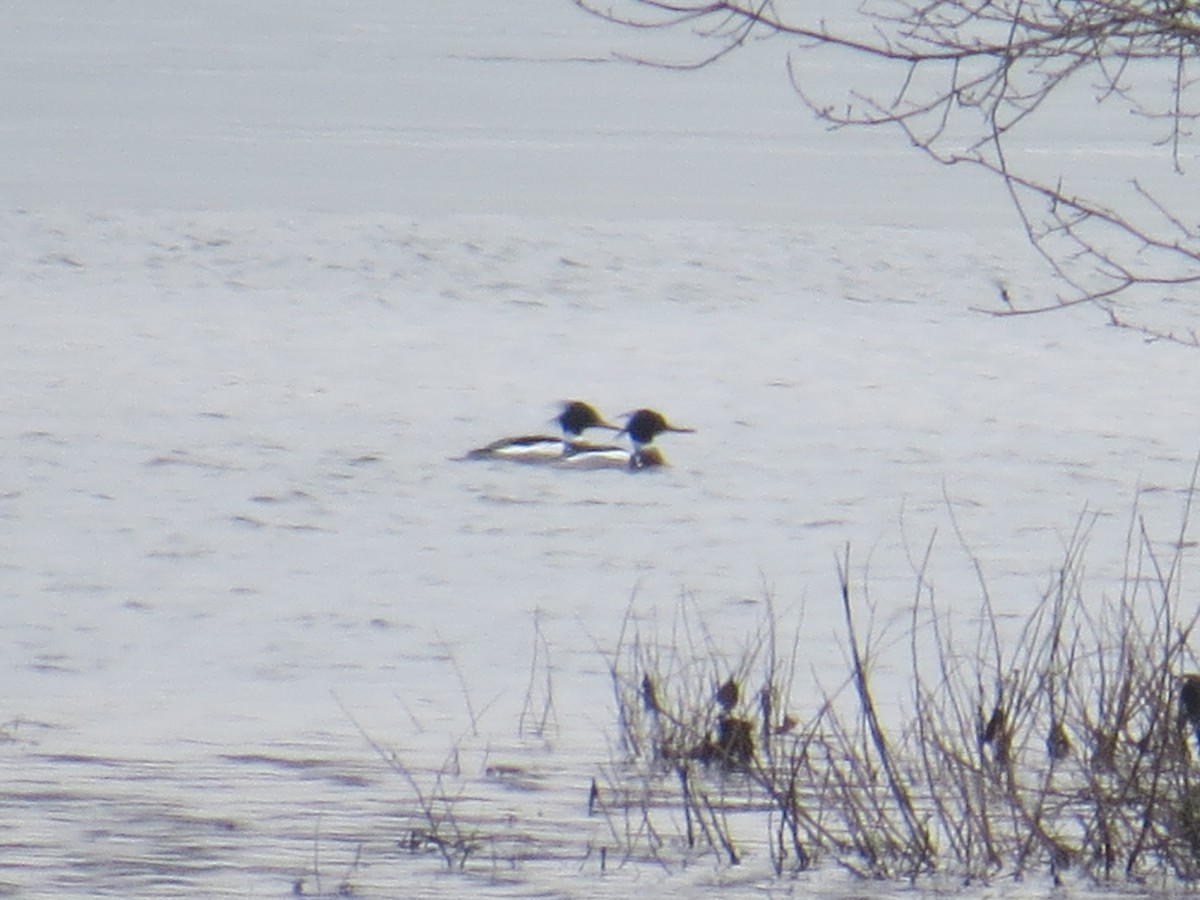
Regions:
<instances>
[{"instance_id":1,"label":"dense clump of dry brown stems at lower right, without sparse left twigs","mask_svg":"<svg viewBox=\"0 0 1200 900\"><path fill-rule=\"evenodd\" d=\"M737 864L757 827L780 874L826 859L872 878L1200 877L1200 613L1181 611L1183 529L1162 559L1135 520L1120 592L1100 599L1084 594L1086 538L1081 521L1008 641L985 587L979 632L954 640L918 572L899 714L881 713L848 551L848 671L808 709L790 694L799 638L780 650L770 604L728 656L695 623L658 644L626 638L626 618L612 659L624 756L598 794L614 841L659 858L661 817L682 812L690 852Z\"/></svg>"}]
</instances>

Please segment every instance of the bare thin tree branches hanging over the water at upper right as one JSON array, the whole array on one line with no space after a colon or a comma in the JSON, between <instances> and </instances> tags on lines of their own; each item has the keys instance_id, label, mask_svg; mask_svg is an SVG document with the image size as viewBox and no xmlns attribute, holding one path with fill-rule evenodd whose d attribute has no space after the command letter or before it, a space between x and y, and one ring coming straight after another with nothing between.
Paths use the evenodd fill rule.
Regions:
<instances>
[{"instance_id":1,"label":"bare thin tree branches hanging over the water at upper right","mask_svg":"<svg viewBox=\"0 0 1200 900\"><path fill-rule=\"evenodd\" d=\"M1026 238L1064 287L1051 304L1006 307L1001 314L1092 302L1114 324L1145 331L1126 324L1114 305L1200 282L1200 222L1182 205L1196 192L1165 180L1186 178L1186 162L1195 155L1200 98L1189 66L1200 55L1200 4L1194 0L863 0L836 28L815 19L803 0L572 1L626 26L688 30L704 48L683 64L638 60L648 65L698 68L756 35L792 38L787 77L827 125L894 127L943 164L970 164L1000 178ZM852 74L830 86L827 76L809 74L810 56L818 52L869 59L876 71L862 84ZM880 68L890 73L882 82ZM1078 102L1080 90L1094 101L1086 112L1096 116L1097 133L1109 133L1100 116L1111 113L1151 127L1163 122L1157 137L1145 139L1152 162L1162 166L1153 187L1141 178L1140 163L1139 179L1088 185L1086 193L1072 187L1080 182L1074 170L1046 174L1049 157L1033 151L1039 137L1033 127L1052 121L1056 104Z\"/></svg>"}]
</instances>

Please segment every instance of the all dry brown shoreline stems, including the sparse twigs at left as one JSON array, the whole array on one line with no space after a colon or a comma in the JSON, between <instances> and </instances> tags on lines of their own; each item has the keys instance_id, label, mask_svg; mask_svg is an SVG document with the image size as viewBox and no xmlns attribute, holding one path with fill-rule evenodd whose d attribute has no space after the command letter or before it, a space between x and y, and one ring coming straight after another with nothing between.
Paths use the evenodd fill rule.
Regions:
<instances>
[{"instance_id":1,"label":"all dry brown shoreline stems, including the sparse twigs at left","mask_svg":"<svg viewBox=\"0 0 1200 900\"><path fill-rule=\"evenodd\" d=\"M931 540L913 562L912 593L884 601L904 616L881 629L869 577L856 582L844 548L828 602L840 613L845 666L810 678L805 631L769 592L740 640L713 634L686 596L660 635L638 623L630 599L604 653L608 760L586 775L580 758L554 769L582 781L577 806L558 798L563 818L539 824L500 817L464 786L457 745L419 778L364 733L414 797L397 846L449 870L493 874L576 857L580 871L601 875L702 862L740 871L750 860L763 878L842 870L935 890L1027 878L1194 889L1200 605L1187 600L1182 570L1195 475L1170 540L1153 540L1134 511L1109 593L1085 577L1097 517L1081 515L1015 618L997 610L973 557L971 595L952 598L953 608L938 598ZM553 666L538 614L533 624L517 733L553 756ZM512 790L538 790L540 778L491 763L484 775ZM574 816L586 827L576 830Z\"/></svg>"}]
</instances>

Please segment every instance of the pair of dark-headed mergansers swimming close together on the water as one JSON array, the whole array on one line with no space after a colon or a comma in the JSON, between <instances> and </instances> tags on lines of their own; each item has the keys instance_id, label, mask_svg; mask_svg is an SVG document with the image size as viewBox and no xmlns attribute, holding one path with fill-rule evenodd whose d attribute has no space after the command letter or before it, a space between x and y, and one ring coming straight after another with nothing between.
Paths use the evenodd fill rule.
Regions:
<instances>
[{"instance_id":1,"label":"pair of dark-headed mergansers swimming close together on the water","mask_svg":"<svg viewBox=\"0 0 1200 900\"><path fill-rule=\"evenodd\" d=\"M562 437L546 434L522 434L493 440L467 454L468 460L512 460L560 466L563 468L623 468L640 470L665 466L666 460L658 448L652 446L655 437L673 431L691 433L692 428L670 425L661 413L637 409L629 414L625 426L618 428L607 422L588 403L572 400L563 406L556 419L563 430ZM628 434L631 450L612 444L590 444L581 440L588 428L608 428L618 434Z\"/></svg>"}]
</instances>

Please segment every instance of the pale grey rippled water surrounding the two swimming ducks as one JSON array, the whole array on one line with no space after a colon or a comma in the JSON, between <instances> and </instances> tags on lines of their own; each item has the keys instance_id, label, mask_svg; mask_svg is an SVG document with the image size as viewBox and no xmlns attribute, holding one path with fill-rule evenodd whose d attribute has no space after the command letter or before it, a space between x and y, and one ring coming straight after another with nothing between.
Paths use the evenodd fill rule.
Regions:
<instances>
[{"instance_id":1,"label":"pale grey rippled water surrounding the two swimming ducks","mask_svg":"<svg viewBox=\"0 0 1200 900\"><path fill-rule=\"evenodd\" d=\"M846 545L887 622L932 540L971 622L950 509L1003 612L1085 510L1098 595L1135 511L1177 534L1200 356L973 311L1056 289L996 186L823 132L784 42L680 74L565 0L5 18L2 890L461 892L397 850L412 792L361 726L530 773L505 815L572 835L473 890L686 894L731 876L580 862L631 601L733 652L770 595L820 670ZM649 475L455 460L575 396L696 433Z\"/></svg>"}]
</instances>

